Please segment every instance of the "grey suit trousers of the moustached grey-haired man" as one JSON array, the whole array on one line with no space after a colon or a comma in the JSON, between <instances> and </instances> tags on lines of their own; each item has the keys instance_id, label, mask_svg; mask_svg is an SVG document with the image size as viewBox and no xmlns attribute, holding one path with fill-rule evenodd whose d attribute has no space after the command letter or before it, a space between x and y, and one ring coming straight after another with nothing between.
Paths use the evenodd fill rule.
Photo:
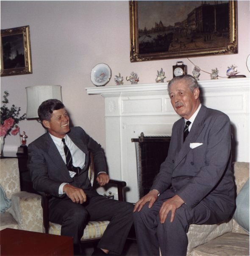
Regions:
<instances>
[{"instance_id":1,"label":"grey suit trousers of the moustached grey-haired man","mask_svg":"<svg viewBox=\"0 0 250 256\"><path fill-rule=\"evenodd\" d=\"M152 208L145 204L140 212L135 212L134 225L140 256L186 256L190 224L215 224L229 217L217 206L199 203L190 210L185 204L175 211L175 218L170 223L171 211L165 223L160 223L159 210L164 200L157 200Z\"/></svg>"}]
</instances>

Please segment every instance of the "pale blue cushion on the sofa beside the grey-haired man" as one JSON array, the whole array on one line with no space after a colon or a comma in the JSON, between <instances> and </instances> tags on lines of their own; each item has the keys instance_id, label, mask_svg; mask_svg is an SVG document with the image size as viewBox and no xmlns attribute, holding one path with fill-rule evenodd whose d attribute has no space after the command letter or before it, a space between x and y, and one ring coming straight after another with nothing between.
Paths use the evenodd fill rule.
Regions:
<instances>
[{"instance_id":1,"label":"pale blue cushion on the sofa beside the grey-haired man","mask_svg":"<svg viewBox=\"0 0 250 256\"><path fill-rule=\"evenodd\" d=\"M249 233L249 179L237 195L233 219Z\"/></svg>"}]
</instances>

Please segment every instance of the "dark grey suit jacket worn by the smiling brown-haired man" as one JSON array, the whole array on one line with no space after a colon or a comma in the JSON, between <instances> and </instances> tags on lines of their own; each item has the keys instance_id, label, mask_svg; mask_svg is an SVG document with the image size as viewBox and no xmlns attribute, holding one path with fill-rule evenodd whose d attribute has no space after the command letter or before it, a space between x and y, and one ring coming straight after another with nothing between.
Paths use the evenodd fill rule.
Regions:
<instances>
[{"instance_id":1,"label":"dark grey suit jacket worn by the smiling brown-haired man","mask_svg":"<svg viewBox=\"0 0 250 256\"><path fill-rule=\"evenodd\" d=\"M58 189L63 182L91 191L92 186L88 178L89 151L93 152L94 168L97 173L106 172L106 161L101 145L81 127L71 128L67 135L86 154L83 169L77 177L71 178L55 143L50 134L46 133L28 145L28 170L31 173L33 187L37 191L62 197L58 195ZM96 192L93 190L93 193Z\"/></svg>"}]
</instances>

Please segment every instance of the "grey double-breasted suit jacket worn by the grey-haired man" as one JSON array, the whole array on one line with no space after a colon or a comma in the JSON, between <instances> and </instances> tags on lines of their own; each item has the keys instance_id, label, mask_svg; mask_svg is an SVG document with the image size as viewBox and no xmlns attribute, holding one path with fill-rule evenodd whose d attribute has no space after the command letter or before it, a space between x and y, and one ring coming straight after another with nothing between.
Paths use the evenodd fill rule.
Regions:
<instances>
[{"instance_id":1,"label":"grey double-breasted suit jacket worn by the grey-haired man","mask_svg":"<svg viewBox=\"0 0 250 256\"><path fill-rule=\"evenodd\" d=\"M173 125L168 156L151 189L161 193L159 199L179 195L189 209L203 200L232 212L235 192L228 116L202 105L184 143L183 129L181 118ZM192 149L190 143L203 144Z\"/></svg>"}]
</instances>

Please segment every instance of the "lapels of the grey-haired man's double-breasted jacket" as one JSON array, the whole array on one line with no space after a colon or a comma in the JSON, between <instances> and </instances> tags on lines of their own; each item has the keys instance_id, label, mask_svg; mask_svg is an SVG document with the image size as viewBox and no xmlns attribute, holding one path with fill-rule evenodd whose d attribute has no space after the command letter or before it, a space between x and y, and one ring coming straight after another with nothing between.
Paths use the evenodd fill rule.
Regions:
<instances>
[{"instance_id":1,"label":"lapels of the grey-haired man's double-breasted jacket","mask_svg":"<svg viewBox=\"0 0 250 256\"><path fill-rule=\"evenodd\" d=\"M183 129L184 124L179 126L179 136L178 136L178 149L181 147L180 151L178 151L178 155L175 159L174 169L178 166L178 164L182 161L182 159L186 156L186 154L191 150L190 143L196 141L197 137L205 127L204 119L206 116L206 107L201 105L200 111L194 119L191 130L189 131L189 135L186 137L185 142L183 142ZM182 128L181 128L182 127Z\"/></svg>"}]
</instances>

